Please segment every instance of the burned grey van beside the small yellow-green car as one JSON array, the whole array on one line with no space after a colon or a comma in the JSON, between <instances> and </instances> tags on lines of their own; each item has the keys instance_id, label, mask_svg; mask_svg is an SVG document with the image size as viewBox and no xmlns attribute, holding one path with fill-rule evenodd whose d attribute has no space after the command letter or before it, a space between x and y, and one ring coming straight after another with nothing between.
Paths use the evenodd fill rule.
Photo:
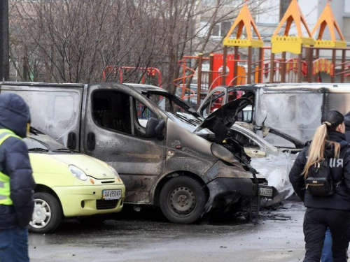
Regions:
<instances>
[{"instance_id":1,"label":"burned grey van beside the small yellow-green car","mask_svg":"<svg viewBox=\"0 0 350 262\"><path fill-rule=\"evenodd\" d=\"M34 128L113 166L125 184L125 203L160 206L169 221L189 224L209 210L251 210L259 196L278 193L234 141L224 146L191 133L133 87L3 82L0 92L25 99ZM249 99L237 100L232 110Z\"/></svg>"}]
</instances>

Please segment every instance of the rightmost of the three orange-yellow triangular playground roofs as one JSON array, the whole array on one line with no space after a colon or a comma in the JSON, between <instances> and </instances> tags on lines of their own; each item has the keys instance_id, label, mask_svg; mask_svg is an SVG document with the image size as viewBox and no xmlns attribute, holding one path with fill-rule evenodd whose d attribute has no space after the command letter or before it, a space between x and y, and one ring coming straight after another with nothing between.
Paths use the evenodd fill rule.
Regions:
<instances>
[{"instance_id":1,"label":"rightmost of the three orange-yellow triangular playground roofs","mask_svg":"<svg viewBox=\"0 0 350 262\"><path fill-rule=\"evenodd\" d=\"M328 26L328 29L330 31L330 38L331 38L330 41L322 39L323 32L326 26ZM316 38L315 46L346 47L344 36L339 29L337 21L335 20L335 16L333 15L332 8L330 7L329 1L327 1L327 4L325 5L325 8L323 9L321 16L318 18L318 21L316 22L316 25L311 32L311 36L314 36L318 28L320 30L318 31L318 36ZM337 38L335 36L335 30L337 30L341 41L337 41Z\"/></svg>"}]
</instances>

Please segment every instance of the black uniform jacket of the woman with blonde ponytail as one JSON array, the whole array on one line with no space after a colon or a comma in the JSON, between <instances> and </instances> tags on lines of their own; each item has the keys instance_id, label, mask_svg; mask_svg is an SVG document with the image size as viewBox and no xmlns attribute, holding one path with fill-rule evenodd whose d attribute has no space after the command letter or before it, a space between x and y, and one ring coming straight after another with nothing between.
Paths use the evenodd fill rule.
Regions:
<instances>
[{"instance_id":1,"label":"black uniform jacket of the woman with blonde ponytail","mask_svg":"<svg viewBox=\"0 0 350 262\"><path fill-rule=\"evenodd\" d=\"M302 171L307 162L309 145L304 147L295 159L289 173L289 180L293 189L307 208L325 208L335 210L350 210L350 144L346 143L345 135L340 132L328 132L328 140L340 144L339 159L334 159L334 150L326 145L325 154L329 159L330 173L334 182L343 181L337 187L332 196L313 196L305 191L304 175Z\"/></svg>"}]
</instances>

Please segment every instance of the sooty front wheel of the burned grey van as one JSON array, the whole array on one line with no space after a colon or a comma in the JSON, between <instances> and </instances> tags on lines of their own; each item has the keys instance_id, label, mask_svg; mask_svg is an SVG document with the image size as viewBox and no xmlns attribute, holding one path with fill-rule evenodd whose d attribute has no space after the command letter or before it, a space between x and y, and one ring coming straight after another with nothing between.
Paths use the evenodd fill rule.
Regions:
<instances>
[{"instance_id":1,"label":"sooty front wheel of the burned grey van","mask_svg":"<svg viewBox=\"0 0 350 262\"><path fill-rule=\"evenodd\" d=\"M206 203L207 194L202 184L191 177L174 177L160 191L160 209L174 223L197 221Z\"/></svg>"}]
</instances>

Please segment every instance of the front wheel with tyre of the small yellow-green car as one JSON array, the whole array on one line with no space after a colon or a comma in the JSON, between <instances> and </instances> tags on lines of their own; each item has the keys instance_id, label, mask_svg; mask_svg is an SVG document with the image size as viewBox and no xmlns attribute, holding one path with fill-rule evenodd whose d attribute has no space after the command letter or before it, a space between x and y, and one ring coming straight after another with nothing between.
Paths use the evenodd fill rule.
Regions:
<instances>
[{"instance_id":1,"label":"front wheel with tyre of the small yellow-green car","mask_svg":"<svg viewBox=\"0 0 350 262\"><path fill-rule=\"evenodd\" d=\"M29 231L49 233L61 223L62 209L55 196L48 193L34 194L34 212L29 222Z\"/></svg>"}]
</instances>

